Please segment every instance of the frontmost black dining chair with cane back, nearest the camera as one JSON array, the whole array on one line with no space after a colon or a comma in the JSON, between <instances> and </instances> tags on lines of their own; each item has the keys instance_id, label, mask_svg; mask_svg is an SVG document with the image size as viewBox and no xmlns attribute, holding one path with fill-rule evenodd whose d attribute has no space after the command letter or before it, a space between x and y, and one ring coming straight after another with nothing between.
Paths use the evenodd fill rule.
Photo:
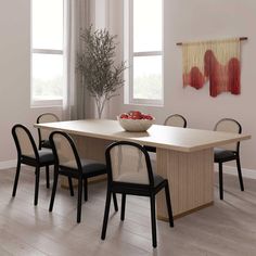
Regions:
<instances>
[{"instance_id":1,"label":"frontmost black dining chair with cane back, nearest the camera","mask_svg":"<svg viewBox=\"0 0 256 256\"><path fill-rule=\"evenodd\" d=\"M111 144L105 152L107 166L107 192L101 239L106 235L111 195L121 194L120 219L125 220L126 195L149 196L151 201L152 243L156 242L155 196L165 189L169 226L174 227L168 180L153 174L146 150L137 143L120 141Z\"/></svg>"}]
</instances>

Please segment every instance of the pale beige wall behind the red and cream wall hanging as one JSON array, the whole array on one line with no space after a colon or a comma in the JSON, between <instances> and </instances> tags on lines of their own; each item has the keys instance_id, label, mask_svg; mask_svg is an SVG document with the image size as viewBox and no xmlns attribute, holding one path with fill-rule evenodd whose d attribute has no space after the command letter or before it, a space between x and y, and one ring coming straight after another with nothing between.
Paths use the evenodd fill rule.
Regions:
<instances>
[{"instance_id":1,"label":"pale beige wall behind the red and cream wall hanging","mask_svg":"<svg viewBox=\"0 0 256 256\"><path fill-rule=\"evenodd\" d=\"M113 33L121 37L120 1L112 0ZM118 10L119 8L119 10ZM145 107L123 104L123 95L112 101L111 116L129 110L141 110L163 124L170 113L180 113L188 119L189 127L213 129L222 117L238 119L243 131L253 139L242 143L242 165L256 169L256 1L255 0L165 0L164 28L164 107ZM119 18L119 21L118 21ZM153 17L152 17L153 18ZM223 93L210 98L208 88L195 90L182 88L181 48L176 42L201 39L220 39L246 36L242 42L242 93ZM118 106L118 107L117 107Z\"/></svg>"}]
</instances>

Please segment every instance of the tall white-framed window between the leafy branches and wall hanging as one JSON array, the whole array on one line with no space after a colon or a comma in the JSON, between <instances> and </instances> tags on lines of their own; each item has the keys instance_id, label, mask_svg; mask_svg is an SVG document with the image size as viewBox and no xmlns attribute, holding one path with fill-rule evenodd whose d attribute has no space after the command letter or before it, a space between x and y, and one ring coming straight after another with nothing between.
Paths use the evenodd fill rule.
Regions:
<instances>
[{"instance_id":1,"label":"tall white-framed window between the leafy branches and wall hanging","mask_svg":"<svg viewBox=\"0 0 256 256\"><path fill-rule=\"evenodd\" d=\"M163 105L163 0L125 3L126 102Z\"/></svg>"}]
</instances>

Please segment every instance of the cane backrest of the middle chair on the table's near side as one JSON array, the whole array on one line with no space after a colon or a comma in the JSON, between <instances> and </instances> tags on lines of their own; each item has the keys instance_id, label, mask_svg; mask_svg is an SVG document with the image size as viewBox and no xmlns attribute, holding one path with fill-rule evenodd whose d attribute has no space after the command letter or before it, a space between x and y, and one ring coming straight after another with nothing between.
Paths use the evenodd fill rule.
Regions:
<instances>
[{"instance_id":1,"label":"cane backrest of the middle chair on the table's near side","mask_svg":"<svg viewBox=\"0 0 256 256\"><path fill-rule=\"evenodd\" d=\"M55 162L59 166L81 171L81 162L73 139L63 131L53 131L50 135L50 143Z\"/></svg>"}]
</instances>

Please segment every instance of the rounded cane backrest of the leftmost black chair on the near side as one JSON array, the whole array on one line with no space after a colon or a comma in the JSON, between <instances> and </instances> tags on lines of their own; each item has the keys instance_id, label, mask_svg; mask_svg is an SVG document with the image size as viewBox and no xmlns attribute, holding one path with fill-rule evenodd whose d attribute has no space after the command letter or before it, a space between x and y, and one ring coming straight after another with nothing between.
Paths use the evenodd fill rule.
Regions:
<instances>
[{"instance_id":1,"label":"rounded cane backrest of the leftmost black chair on the near side","mask_svg":"<svg viewBox=\"0 0 256 256\"><path fill-rule=\"evenodd\" d=\"M30 131L23 125L17 124L12 128L12 136L16 145L18 157L28 156L39 159L37 145Z\"/></svg>"}]
</instances>

